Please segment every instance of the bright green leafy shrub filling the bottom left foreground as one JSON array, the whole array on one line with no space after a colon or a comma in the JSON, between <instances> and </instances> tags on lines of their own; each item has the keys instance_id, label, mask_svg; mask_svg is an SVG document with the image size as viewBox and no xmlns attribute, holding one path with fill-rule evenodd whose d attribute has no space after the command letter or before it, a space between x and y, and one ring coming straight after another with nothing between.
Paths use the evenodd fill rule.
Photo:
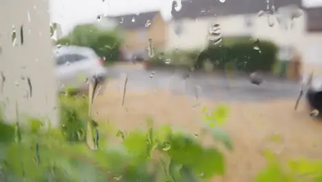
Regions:
<instances>
[{"instance_id":1,"label":"bright green leafy shrub filling the bottom left foreground","mask_svg":"<svg viewBox=\"0 0 322 182\"><path fill-rule=\"evenodd\" d=\"M223 107L204 114L202 134L212 134L231 150L229 136L220 128L226 116ZM0 123L0 181L199 181L225 172L224 155L217 148L204 147L202 138L169 125L155 128L151 119L147 130L108 130L120 143L105 140L98 150L66 142L63 132L43 130L41 123L32 119L25 128ZM104 133L107 128L99 125L98 130Z\"/></svg>"}]
</instances>

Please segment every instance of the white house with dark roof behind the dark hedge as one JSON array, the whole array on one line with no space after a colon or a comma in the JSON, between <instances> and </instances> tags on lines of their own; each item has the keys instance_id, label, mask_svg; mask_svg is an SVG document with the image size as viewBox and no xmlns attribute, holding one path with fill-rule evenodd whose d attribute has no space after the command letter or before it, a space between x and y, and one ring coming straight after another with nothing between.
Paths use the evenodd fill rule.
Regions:
<instances>
[{"instance_id":1,"label":"white house with dark roof behind the dark hedge","mask_svg":"<svg viewBox=\"0 0 322 182\"><path fill-rule=\"evenodd\" d=\"M181 10L173 10L170 23L169 49L202 49L208 44L209 28L218 24L222 37L253 37L270 39L278 45L301 45L305 32L305 16L293 21L292 30L286 31L277 22L277 16L263 14L269 6L275 8L275 14L283 6L301 7L301 0L279 0L273 4L258 0L213 1L182 0ZM173 6L176 2L173 2ZM297 37L297 39L293 39Z\"/></svg>"}]
</instances>

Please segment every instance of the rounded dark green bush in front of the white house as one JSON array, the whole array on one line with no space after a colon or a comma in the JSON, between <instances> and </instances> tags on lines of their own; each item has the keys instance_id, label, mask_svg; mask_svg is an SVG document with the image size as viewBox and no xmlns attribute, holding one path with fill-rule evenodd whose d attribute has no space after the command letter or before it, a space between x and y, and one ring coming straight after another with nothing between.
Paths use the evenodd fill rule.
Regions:
<instances>
[{"instance_id":1,"label":"rounded dark green bush in front of the white house","mask_svg":"<svg viewBox=\"0 0 322 182\"><path fill-rule=\"evenodd\" d=\"M241 40L230 45L209 45L195 62L196 68L202 68L205 60L210 60L215 69L224 70L233 66L234 70L253 72L271 71L276 61L277 46L270 41Z\"/></svg>"}]
</instances>

